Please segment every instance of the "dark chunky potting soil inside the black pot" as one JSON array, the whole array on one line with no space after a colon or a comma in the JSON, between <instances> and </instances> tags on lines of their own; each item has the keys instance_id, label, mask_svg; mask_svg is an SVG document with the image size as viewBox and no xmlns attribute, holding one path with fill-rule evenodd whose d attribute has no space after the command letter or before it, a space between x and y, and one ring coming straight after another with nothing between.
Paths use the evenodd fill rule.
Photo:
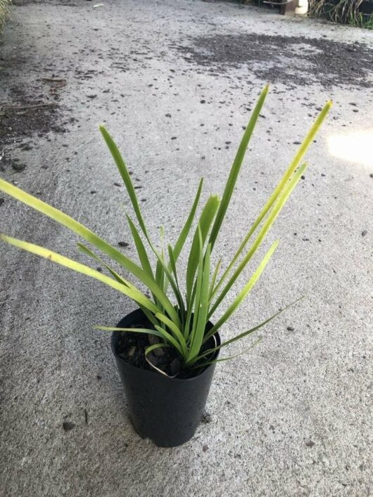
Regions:
<instances>
[{"instance_id":1,"label":"dark chunky potting soil inside the black pot","mask_svg":"<svg viewBox=\"0 0 373 497\"><path fill-rule=\"evenodd\" d=\"M146 323L136 323L131 326L131 328L153 328L151 324ZM148 361L151 361L153 366L162 370L168 376L177 377L180 379L191 378L199 375L204 370L203 366L201 368L194 368L185 370L182 366L182 357L179 353L172 347L163 347L161 349L156 349L148 354L148 361L145 359L145 349L153 343L160 342L158 337L153 335L148 335L147 333L130 333L123 331L120 333L120 339L118 340L117 347L115 348L116 354L125 361L137 368L153 371L153 373L158 373L155 368L152 368ZM215 347L215 340L213 337L210 338L203 345L201 352L206 351ZM212 359L212 355L208 359ZM203 361L199 361L196 365L202 365ZM158 373L161 374L161 373Z\"/></svg>"}]
</instances>

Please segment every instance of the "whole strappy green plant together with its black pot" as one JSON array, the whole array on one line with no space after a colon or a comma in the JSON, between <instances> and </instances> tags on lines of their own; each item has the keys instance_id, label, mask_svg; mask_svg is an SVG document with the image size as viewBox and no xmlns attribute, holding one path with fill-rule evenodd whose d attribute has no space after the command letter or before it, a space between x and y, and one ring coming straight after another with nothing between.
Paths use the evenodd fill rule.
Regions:
<instances>
[{"instance_id":1,"label":"whole strappy green plant together with its black pot","mask_svg":"<svg viewBox=\"0 0 373 497\"><path fill-rule=\"evenodd\" d=\"M156 247L151 240L125 162L108 131L100 127L125 183L137 219L135 224L129 214L126 214L139 262L132 261L89 228L55 207L0 179L0 191L8 193L77 233L99 252L113 259L125 271L124 274L119 274L117 269L104 262L99 254L82 243L78 244L80 250L99 261L108 271L108 275L44 247L1 235L1 240L6 243L96 278L136 302L138 309L122 318L117 327L97 326L96 328L113 332L113 353L125 387L132 423L141 437L153 439L158 446L176 446L193 436L206 404L215 363L231 359L220 358L220 350L251 335L279 314L277 312L263 323L244 330L229 340L220 339L221 326L248 296L276 250L278 240L267 251L244 288L236 294L232 304L221 311L227 292L263 243L291 191L304 174L307 164L301 164L303 155L329 112L331 102L328 102L320 112L281 181L274 188L225 270L220 271L221 259L214 268L211 267L211 253L215 248L246 148L267 91L268 85L260 94L248 122L222 198L211 195L197 219L196 212L203 184L201 180L179 237L175 245L167 245L167 250ZM181 278L177 259L189 233L192 233L189 258L185 276ZM247 248L252 238L253 243ZM151 257L156 261L155 268L151 266ZM129 281L126 273L132 274L139 280L148 289L148 294ZM220 311L220 317L214 319L215 311Z\"/></svg>"}]
</instances>

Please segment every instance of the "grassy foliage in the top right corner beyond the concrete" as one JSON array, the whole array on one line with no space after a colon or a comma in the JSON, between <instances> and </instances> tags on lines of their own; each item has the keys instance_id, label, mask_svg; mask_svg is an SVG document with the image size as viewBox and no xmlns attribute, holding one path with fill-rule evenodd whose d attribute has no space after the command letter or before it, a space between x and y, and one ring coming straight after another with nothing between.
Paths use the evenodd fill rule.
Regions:
<instances>
[{"instance_id":1,"label":"grassy foliage in the top right corner beyond the concrete","mask_svg":"<svg viewBox=\"0 0 373 497\"><path fill-rule=\"evenodd\" d=\"M332 22L373 29L373 15L362 13L364 0L308 0L312 17L325 17Z\"/></svg>"}]
</instances>

